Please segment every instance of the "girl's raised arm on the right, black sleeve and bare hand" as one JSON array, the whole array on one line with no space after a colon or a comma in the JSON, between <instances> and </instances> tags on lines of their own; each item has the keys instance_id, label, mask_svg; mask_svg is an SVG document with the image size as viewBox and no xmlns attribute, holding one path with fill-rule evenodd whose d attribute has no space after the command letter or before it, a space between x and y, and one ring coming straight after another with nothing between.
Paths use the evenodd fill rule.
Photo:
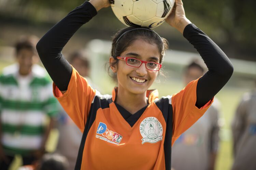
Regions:
<instances>
[{"instance_id":1,"label":"girl's raised arm on the right, black sleeve and bare hand","mask_svg":"<svg viewBox=\"0 0 256 170\"><path fill-rule=\"evenodd\" d=\"M181 0L176 0L175 7L166 21L183 33L208 67L207 73L199 79L197 84L196 106L201 108L228 82L233 73L233 66L226 54L186 18Z\"/></svg>"}]
</instances>

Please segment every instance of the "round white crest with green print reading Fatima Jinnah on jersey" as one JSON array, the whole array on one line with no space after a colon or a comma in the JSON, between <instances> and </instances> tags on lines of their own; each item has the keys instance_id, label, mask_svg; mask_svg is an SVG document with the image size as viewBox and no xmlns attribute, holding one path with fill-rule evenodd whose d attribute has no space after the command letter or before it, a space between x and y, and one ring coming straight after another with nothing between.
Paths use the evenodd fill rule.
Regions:
<instances>
[{"instance_id":1,"label":"round white crest with green print reading Fatima Jinnah on jersey","mask_svg":"<svg viewBox=\"0 0 256 170\"><path fill-rule=\"evenodd\" d=\"M163 139L162 124L155 117L147 117L140 123L140 134L143 137L142 144L156 143Z\"/></svg>"}]
</instances>

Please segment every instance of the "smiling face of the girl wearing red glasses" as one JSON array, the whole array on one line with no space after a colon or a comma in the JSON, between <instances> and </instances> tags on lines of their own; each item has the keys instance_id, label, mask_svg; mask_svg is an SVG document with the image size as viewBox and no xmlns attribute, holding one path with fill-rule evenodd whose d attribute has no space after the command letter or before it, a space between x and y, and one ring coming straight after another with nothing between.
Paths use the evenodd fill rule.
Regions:
<instances>
[{"instance_id":1,"label":"smiling face of the girl wearing red glasses","mask_svg":"<svg viewBox=\"0 0 256 170\"><path fill-rule=\"evenodd\" d=\"M156 63L159 63L160 60L158 47L147 43L143 39L135 40L120 56L134 57L143 61ZM117 73L119 90L123 89L132 94L144 93L150 88L158 74L158 71L148 70L144 63L140 67L131 67L126 65L126 62L122 60L118 61L118 66L115 69L113 71Z\"/></svg>"}]
</instances>

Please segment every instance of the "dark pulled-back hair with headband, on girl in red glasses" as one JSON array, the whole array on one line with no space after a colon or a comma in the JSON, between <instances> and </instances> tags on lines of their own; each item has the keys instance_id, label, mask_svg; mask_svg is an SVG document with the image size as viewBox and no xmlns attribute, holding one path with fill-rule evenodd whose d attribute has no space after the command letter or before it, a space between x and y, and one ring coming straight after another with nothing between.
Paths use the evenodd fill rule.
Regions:
<instances>
[{"instance_id":1,"label":"dark pulled-back hair with headband, on girl in red glasses","mask_svg":"<svg viewBox=\"0 0 256 170\"><path fill-rule=\"evenodd\" d=\"M110 66L116 65L118 63L118 60L116 59L116 57L120 56L120 54L123 51L125 51L127 47L129 47L135 40L138 40L140 38L158 47L158 50L160 53L159 63L162 63L163 56L165 55L165 51L168 49L168 46L169 46L168 41L165 38L159 37L159 35L154 31L152 31L150 28L146 28L146 27L141 27L141 28L142 29L138 29L138 27L127 27L119 30L113 36L111 56L114 57L115 62L109 63ZM120 36L122 37L118 39ZM114 78L114 80L116 80L116 74L113 74L110 72L110 66L108 68L108 73L112 78Z\"/></svg>"}]
</instances>

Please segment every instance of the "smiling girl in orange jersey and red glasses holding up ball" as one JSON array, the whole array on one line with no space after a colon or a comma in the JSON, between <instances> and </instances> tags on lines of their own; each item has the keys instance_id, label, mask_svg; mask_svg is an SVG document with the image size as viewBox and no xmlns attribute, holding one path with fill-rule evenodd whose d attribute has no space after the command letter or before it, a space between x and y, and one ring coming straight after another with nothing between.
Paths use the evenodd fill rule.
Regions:
<instances>
[{"instance_id":1,"label":"smiling girl in orange jersey and red glasses holding up ball","mask_svg":"<svg viewBox=\"0 0 256 170\"><path fill-rule=\"evenodd\" d=\"M76 7L37 44L54 81L54 95L83 132L75 169L170 169L171 146L195 123L227 83L233 67L224 52L185 16L176 0L166 22L199 52L208 72L173 96L148 90L161 68L167 41L148 28L119 30L112 41L112 96L101 95L66 61L62 48L109 0ZM93 57L93 56L92 56Z\"/></svg>"}]
</instances>

